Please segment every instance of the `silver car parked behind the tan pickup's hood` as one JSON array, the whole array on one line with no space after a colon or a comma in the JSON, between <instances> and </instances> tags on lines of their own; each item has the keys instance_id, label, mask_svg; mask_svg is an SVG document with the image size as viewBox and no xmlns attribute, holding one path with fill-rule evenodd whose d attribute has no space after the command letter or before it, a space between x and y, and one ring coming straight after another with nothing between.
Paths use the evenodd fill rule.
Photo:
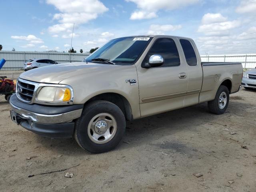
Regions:
<instances>
[{"instance_id":1,"label":"silver car parked behind the tan pickup's hood","mask_svg":"<svg viewBox=\"0 0 256 192\"><path fill-rule=\"evenodd\" d=\"M49 66L53 64L58 64L58 63L50 59L30 59L24 63L23 69L27 71L30 69Z\"/></svg>"}]
</instances>

